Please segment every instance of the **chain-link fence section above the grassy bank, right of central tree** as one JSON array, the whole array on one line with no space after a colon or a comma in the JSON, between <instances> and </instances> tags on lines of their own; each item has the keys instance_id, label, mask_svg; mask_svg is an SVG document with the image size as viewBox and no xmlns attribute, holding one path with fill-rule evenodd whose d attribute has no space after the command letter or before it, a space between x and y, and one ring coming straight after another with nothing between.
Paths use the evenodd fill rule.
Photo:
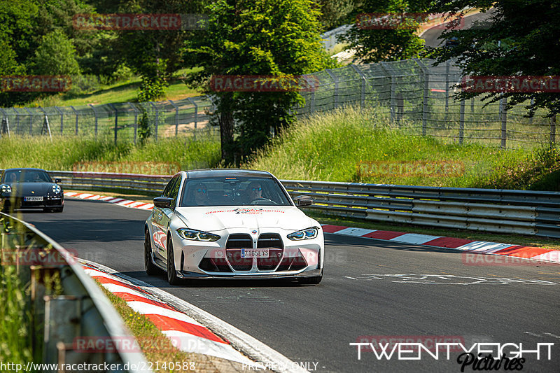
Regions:
<instances>
[{"instance_id":1,"label":"chain-link fence section above the grassy bank, right of central tree","mask_svg":"<svg viewBox=\"0 0 560 373\"><path fill-rule=\"evenodd\" d=\"M517 148L528 143L555 143L554 118L545 110L526 118L524 104L506 111L507 101L484 106L478 97L455 101L461 70L451 61L433 66L432 59L358 64L315 73L318 87L303 92L298 115L343 106L375 107L396 127L414 135L446 137L457 143L478 142Z\"/></svg>"}]
</instances>

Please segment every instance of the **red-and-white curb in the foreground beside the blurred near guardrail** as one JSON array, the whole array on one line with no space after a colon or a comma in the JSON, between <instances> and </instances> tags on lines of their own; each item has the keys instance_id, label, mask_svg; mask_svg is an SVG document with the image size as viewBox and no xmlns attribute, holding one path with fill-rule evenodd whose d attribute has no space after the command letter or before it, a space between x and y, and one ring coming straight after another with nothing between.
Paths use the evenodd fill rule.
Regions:
<instances>
[{"instance_id":1,"label":"red-and-white curb in the foreground beside the blurred near guardrail","mask_svg":"<svg viewBox=\"0 0 560 373\"><path fill-rule=\"evenodd\" d=\"M149 318L164 335L172 339L177 349L262 368L262 365L242 355L228 341L218 337L201 323L169 307L138 286L90 265L84 265L83 268L85 273L99 281L104 288L125 300L130 308Z\"/></svg>"}]
</instances>

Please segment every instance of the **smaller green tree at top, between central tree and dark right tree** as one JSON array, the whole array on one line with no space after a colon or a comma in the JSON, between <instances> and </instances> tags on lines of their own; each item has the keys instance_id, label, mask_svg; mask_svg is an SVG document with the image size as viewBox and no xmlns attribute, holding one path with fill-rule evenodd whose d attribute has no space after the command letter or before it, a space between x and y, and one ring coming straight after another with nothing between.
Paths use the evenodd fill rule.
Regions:
<instances>
[{"instance_id":1,"label":"smaller green tree at top, between central tree and dark right tree","mask_svg":"<svg viewBox=\"0 0 560 373\"><path fill-rule=\"evenodd\" d=\"M413 15L427 14L430 3L428 0L365 0L356 12L363 22L354 23L341 41L349 43L356 50L354 58L364 63L419 57L424 42L416 35L416 29L422 19ZM384 15L391 21L381 25ZM370 18L374 20L367 22Z\"/></svg>"}]
</instances>

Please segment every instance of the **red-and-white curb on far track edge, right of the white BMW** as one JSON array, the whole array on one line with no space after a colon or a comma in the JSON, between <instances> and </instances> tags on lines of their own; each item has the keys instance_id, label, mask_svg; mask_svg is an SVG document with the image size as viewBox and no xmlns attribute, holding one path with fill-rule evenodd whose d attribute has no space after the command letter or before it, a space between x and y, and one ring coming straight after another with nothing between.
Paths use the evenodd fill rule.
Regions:
<instances>
[{"instance_id":1,"label":"red-and-white curb on far track edge, right of the white BMW","mask_svg":"<svg viewBox=\"0 0 560 373\"><path fill-rule=\"evenodd\" d=\"M515 258L542 260L560 263L560 250L532 246L500 244L498 242L474 241L428 234L393 232L390 230L367 230L363 228L342 227L340 225L323 225L325 233L345 234L354 237L384 239L402 244L425 245L437 248L452 248L476 253L506 255Z\"/></svg>"}]
</instances>

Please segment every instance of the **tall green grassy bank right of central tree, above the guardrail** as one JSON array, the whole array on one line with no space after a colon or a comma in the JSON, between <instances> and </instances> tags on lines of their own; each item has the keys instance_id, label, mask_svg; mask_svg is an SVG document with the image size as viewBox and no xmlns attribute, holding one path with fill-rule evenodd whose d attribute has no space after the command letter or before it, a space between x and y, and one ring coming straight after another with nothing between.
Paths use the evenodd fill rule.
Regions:
<instances>
[{"instance_id":1,"label":"tall green grassy bank right of central tree, above the guardrail","mask_svg":"<svg viewBox=\"0 0 560 373\"><path fill-rule=\"evenodd\" d=\"M409 133L376 111L330 111L297 122L245 167L299 180L560 190L557 148L503 150ZM387 172L400 162L408 174ZM455 169L434 173L414 162L449 162Z\"/></svg>"}]
</instances>

